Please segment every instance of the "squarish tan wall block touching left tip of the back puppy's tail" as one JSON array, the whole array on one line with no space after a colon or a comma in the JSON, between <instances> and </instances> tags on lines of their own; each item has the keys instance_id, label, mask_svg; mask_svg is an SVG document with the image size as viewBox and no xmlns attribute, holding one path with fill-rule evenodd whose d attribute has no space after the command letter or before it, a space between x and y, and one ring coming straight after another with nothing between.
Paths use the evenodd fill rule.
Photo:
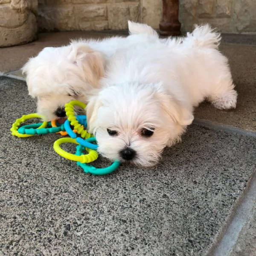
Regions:
<instances>
[{"instance_id":1,"label":"squarish tan wall block touching left tip of the back puppy's tail","mask_svg":"<svg viewBox=\"0 0 256 256\"><path fill-rule=\"evenodd\" d=\"M108 26L109 29L127 29L128 20L139 20L138 3L115 3L108 5Z\"/></svg>"}]
</instances>

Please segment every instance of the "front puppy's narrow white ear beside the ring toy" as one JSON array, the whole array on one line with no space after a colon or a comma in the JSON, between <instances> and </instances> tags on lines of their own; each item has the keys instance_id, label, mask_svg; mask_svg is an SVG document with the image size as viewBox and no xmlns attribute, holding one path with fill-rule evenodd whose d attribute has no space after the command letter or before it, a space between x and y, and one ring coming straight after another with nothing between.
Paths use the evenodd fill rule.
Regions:
<instances>
[{"instance_id":1,"label":"front puppy's narrow white ear beside the ring toy","mask_svg":"<svg viewBox=\"0 0 256 256\"><path fill-rule=\"evenodd\" d=\"M90 133L94 133L96 128L96 119L99 108L102 106L102 102L99 99L99 96L93 96L86 107L87 115L87 130Z\"/></svg>"}]
</instances>

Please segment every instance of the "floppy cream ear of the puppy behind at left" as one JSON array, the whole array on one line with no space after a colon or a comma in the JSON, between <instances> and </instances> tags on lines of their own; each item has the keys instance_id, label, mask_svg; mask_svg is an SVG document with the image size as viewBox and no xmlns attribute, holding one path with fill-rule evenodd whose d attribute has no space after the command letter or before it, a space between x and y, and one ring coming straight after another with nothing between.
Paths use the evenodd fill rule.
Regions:
<instances>
[{"instance_id":1,"label":"floppy cream ear of the puppy behind at left","mask_svg":"<svg viewBox=\"0 0 256 256\"><path fill-rule=\"evenodd\" d=\"M68 58L77 66L82 67L91 82L104 76L104 58L102 52L94 51L82 41L73 41Z\"/></svg>"}]
</instances>

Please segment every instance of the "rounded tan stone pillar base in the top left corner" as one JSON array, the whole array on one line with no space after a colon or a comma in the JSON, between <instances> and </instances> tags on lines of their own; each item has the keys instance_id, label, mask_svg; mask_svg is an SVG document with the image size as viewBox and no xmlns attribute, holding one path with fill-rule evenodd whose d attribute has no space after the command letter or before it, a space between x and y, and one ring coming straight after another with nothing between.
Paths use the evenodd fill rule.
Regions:
<instances>
[{"instance_id":1,"label":"rounded tan stone pillar base in the top left corner","mask_svg":"<svg viewBox=\"0 0 256 256\"><path fill-rule=\"evenodd\" d=\"M0 1L0 47L25 44L37 38L37 0Z\"/></svg>"}]
</instances>

